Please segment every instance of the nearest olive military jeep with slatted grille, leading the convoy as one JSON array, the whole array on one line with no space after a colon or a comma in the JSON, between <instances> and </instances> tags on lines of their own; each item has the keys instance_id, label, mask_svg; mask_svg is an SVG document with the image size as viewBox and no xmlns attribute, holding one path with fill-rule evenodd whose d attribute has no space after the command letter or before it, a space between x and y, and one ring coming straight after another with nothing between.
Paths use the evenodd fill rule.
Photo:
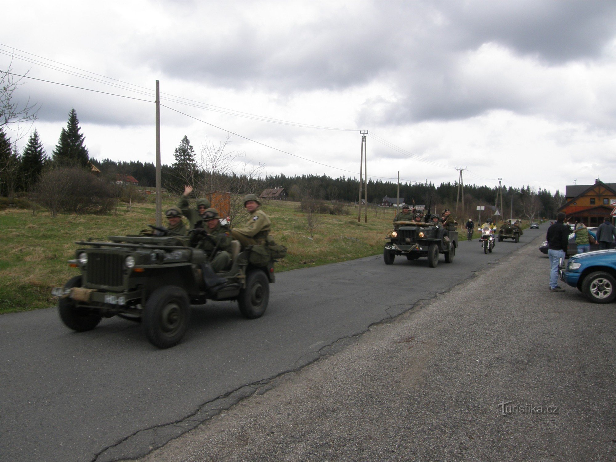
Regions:
<instances>
[{"instance_id":1,"label":"nearest olive military jeep with slatted grille, leading the convoy","mask_svg":"<svg viewBox=\"0 0 616 462\"><path fill-rule=\"evenodd\" d=\"M217 274L227 283L214 288L206 286L201 270L208 257L184 238L110 236L76 244L80 248L69 264L81 275L53 291L63 323L83 332L118 315L140 322L148 340L160 348L181 341L191 304L237 300L246 318L261 317L274 282L274 261L251 264L251 247L240 251L238 241L232 242L230 269Z\"/></svg>"}]
</instances>

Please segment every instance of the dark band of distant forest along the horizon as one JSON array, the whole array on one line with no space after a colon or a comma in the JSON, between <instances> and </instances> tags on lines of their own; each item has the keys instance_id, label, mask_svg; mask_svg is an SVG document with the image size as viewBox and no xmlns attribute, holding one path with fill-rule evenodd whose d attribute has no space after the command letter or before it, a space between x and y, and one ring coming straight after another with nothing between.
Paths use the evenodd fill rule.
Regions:
<instances>
[{"instance_id":1,"label":"dark band of distant forest along the horizon","mask_svg":"<svg viewBox=\"0 0 616 462\"><path fill-rule=\"evenodd\" d=\"M117 174L131 175L144 187L154 187L156 185L156 169L152 163L142 163L140 161L116 162L109 159L102 161L91 160L103 175L111 177ZM198 175L198 173L197 173ZM225 176L225 175L224 175ZM228 176L228 175L227 175ZM180 176L176 174L173 166L163 165L161 167L161 180L164 188L169 192L180 194L183 190ZM359 195L359 182L354 178L341 176L332 178L322 175L302 175L286 176L285 174L265 176L261 178L249 178L245 181L251 183L251 190L258 192L265 188L285 188L290 200L300 200L302 194L310 192L318 195L318 199L323 201L344 201L347 203L357 203ZM501 188L502 205L499 204L499 213L502 217L524 217L527 219L545 217L549 219L556 216L557 210L564 205L564 196L556 190L553 194L548 190L539 188L533 190L529 186L521 188L507 187ZM495 213L496 196L498 187L477 186L474 184L464 185L464 210L461 209L461 199L458 201L458 219L468 215L475 219L477 217L477 206L485 206L482 214ZM404 198L405 203L415 205L431 205L432 212L440 213L444 208L452 211L456 208L456 198L458 195L458 182L446 182L440 185L431 182L400 184L400 197ZM397 196L397 184L395 182L382 180L368 180L368 203L378 205L384 197L395 198ZM362 193L363 198L363 193ZM513 211L511 207L513 206ZM464 218L466 219L466 218Z\"/></svg>"}]
</instances>

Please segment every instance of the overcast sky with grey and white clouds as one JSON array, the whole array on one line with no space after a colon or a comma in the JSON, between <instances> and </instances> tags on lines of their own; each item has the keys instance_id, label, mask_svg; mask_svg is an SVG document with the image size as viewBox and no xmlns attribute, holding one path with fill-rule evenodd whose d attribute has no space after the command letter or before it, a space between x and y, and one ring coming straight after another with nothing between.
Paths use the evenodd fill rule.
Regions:
<instances>
[{"instance_id":1,"label":"overcast sky with grey and white clouds","mask_svg":"<svg viewBox=\"0 0 616 462\"><path fill-rule=\"evenodd\" d=\"M2 15L0 70L11 55L29 70L19 98L38 103L49 155L74 107L91 157L155 162L160 80L166 164L184 135L200 152L228 132L262 174L357 176L365 130L372 179L616 182L613 0L30 0Z\"/></svg>"}]
</instances>

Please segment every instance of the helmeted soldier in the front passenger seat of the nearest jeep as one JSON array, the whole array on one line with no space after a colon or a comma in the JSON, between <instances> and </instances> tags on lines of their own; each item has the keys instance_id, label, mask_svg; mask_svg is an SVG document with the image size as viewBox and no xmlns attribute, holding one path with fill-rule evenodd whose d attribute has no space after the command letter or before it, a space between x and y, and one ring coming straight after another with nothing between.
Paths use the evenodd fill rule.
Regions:
<instances>
[{"instance_id":1,"label":"helmeted soldier in the front passenger seat of the nearest jeep","mask_svg":"<svg viewBox=\"0 0 616 462\"><path fill-rule=\"evenodd\" d=\"M209 257L209 264L214 272L225 270L231 262L231 232L221 225L220 215L215 208L209 208L203 214L205 228L198 228L195 237L197 248L202 249Z\"/></svg>"}]
</instances>

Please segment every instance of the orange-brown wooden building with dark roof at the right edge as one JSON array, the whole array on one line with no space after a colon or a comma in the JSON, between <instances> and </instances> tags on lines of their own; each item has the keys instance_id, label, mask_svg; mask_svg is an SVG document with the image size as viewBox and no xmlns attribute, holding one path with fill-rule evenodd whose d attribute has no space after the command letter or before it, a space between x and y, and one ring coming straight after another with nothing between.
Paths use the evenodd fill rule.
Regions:
<instances>
[{"instance_id":1,"label":"orange-brown wooden building with dark roof at the right edge","mask_svg":"<svg viewBox=\"0 0 616 462\"><path fill-rule=\"evenodd\" d=\"M591 185L570 185L565 188L565 200L558 211L567 215L567 221L599 226L616 207L616 183L596 179Z\"/></svg>"}]
</instances>

